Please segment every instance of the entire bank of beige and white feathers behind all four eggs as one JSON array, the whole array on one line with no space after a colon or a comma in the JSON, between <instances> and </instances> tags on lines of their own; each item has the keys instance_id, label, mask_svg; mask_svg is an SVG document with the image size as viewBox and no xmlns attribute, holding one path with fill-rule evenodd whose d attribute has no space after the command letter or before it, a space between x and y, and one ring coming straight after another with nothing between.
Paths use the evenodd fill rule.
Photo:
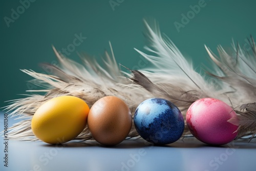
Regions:
<instances>
[{"instance_id":1,"label":"entire bank of beige and white feathers behind all four eggs","mask_svg":"<svg viewBox=\"0 0 256 171\"><path fill-rule=\"evenodd\" d=\"M12 111L12 116L23 119L10 128L9 137L16 140L37 140L30 128L33 114L44 102L63 95L82 98L90 107L99 98L114 95L129 105L133 115L140 102L152 97L172 101L182 111L184 117L190 104L200 98L217 98L230 106L250 103L240 112L236 111L239 121L229 121L239 125L239 137L255 134L255 109L251 108L251 103L256 101L256 48L253 39L252 53L233 44L231 53L227 53L219 46L220 57L217 57L205 47L213 61L214 71L204 74L194 70L192 63L181 54L173 42L160 33L156 23L150 27L145 22L145 26L149 40L145 50L150 54L135 50L151 63L151 66L139 71L130 70L131 74L120 70L111 45L112 55L105 52L105 58L102 58L105 65L103 67L88 56L80 56L83 62L81 65L62 56L53 48L60 67L43 64L51 74L22 70L39 80L37 86L42 87L42 90L31 92L46 94L28 95L23 99L13 100L7 106L6 109ZM187 128L184 134L189 134ZM136 135L133 126L129 137ZM91 140L88 127L76 139Z\"/></svg>"}]
</instances>

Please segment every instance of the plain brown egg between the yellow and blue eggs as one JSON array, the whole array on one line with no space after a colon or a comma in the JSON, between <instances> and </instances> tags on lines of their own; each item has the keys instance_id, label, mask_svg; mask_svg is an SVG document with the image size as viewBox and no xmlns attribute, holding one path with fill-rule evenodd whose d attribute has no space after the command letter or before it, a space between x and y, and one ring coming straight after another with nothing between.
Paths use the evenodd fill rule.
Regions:
<instances>
[{"instance_id":1,"label":"plain brown egg between the yellow and blue eggs","mask_svg":"<svg viewBox=\"0 0 256 171\"><path fill-rule=\"evenodd\" d=\"M132 115L125 102L115 96L96 101L88 114L88 128L93 138L103 145L122 142L132 127Z\"/></svg>"}]
</instances>

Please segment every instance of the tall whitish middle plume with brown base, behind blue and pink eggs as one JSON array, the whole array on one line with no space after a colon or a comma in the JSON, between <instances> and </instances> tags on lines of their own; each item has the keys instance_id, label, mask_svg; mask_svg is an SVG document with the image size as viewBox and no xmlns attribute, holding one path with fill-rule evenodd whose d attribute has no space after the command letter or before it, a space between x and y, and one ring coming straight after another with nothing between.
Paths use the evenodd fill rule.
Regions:
<instances>
[{"instance_id":1,"label":"tall whitish middle plume with brown base, behind blue and pink eggs","mask_svg":"<svg viewBox=\"0 0 256 171\"><path fill-rule=\"evenodd\" d=\"M189 106L200 98L212 97L231 105L227 92L233 91L215 77L207 77L196 72L173 42L160 33L157 24L154 28L146 22L149 45L145 49L151 54L135 49L153 67L132 71L132 78L155 97L172 101L181 110L185 118ZM154 55L152 55L154 54ZM189 134L185 126L185 134Z\"/></svg>"}]
</instances>

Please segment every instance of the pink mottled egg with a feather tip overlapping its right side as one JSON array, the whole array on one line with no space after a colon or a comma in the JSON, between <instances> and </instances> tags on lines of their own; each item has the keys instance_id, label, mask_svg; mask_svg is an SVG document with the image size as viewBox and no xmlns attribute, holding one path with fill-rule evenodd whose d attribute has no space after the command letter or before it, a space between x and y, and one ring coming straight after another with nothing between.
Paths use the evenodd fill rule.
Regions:
<instances>
[{"instance_id":1,"label":"pink mottled egg with a feather tip overlapping its right side","mask_svg":"<svg viewBox=\"0 0 256 171\"><path fill-rule=\"evenodd\" d=\"M231 142L238 134L238 126L228 122L233 117L237 118L237 114L228 104L214 98L203 98L190 105L186 123L198 140L222 145Z\"/></svg>"}]
</instances>

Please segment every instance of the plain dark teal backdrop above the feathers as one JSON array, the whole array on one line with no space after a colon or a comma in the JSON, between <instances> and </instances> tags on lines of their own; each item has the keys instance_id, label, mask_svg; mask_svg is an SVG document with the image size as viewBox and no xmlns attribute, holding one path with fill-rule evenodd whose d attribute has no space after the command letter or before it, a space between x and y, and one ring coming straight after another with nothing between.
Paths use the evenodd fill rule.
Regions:
<instances>
[{"instance_id":1,"label":"plain dark teal backdrop above the feathers","mask_svg":"<svg viewBox=\"0 0 256 171\"><path fill-rule=\"evenodd\" d=\"M115 1L117 2L117 1ZM119 1L120 2L120 1ZM52 50L72 44L75 34L87 37L68 57L79 60L76 52L86 52L99 58L110 50L112 42L118 63L133 68L140 60L133 49L146 45L142 19L156 19L161 31L167 34L195 68L208 66L204 44L216 52L217 45L230 47L231 39L246 45L246 38L256 35L256 1L205 1L206 6L190 19L178 33L174 22L181 23L181 14L190 11L190 5L199 1L128 1L124 0L113 11L109 1L40 1L20 14L8 28L4 17L11 17L19 1L2 0L1 14L1 91L0 106L6 100L30 94L27 76L19 69L43 70L40 62L55 62ZM144 51L144 50L143 50ZM144 51L145 52L145 51Z\"/></svg>"}]
</instances>

